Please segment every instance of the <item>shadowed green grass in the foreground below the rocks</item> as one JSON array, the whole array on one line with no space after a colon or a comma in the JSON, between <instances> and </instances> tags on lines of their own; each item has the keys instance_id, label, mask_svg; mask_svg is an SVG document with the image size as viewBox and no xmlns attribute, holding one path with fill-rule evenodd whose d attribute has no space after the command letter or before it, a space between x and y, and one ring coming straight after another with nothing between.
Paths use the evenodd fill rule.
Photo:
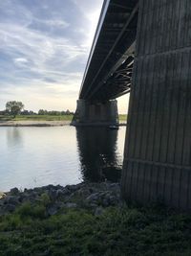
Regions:
<instances>
[{"instance_id":1,"label":"shadowed green grass in the foreground below the rocks","mask_svg":"<svg viewBox=\"0 0 191 256\"><path fill-rule=\"evenodd\" d=\"M63 209L25 203L0 217L0 255L191 255L191 216L164 208Z\"/></svg>"}]
</instances>

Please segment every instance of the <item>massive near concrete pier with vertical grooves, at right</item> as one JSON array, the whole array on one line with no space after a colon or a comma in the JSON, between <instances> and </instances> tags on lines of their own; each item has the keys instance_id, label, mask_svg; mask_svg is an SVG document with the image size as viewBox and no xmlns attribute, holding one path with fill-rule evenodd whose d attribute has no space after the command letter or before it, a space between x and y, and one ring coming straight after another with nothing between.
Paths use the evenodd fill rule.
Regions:
<instances>
[{"instance_id":1,"label":"massive near concrete pier with vertical grooves, at right","mask_svg":"<svg viewBox=\"0 0 191 256\"><path fill-rule=\"evenodd\" d=\"M191 210L191 2L139 0L121 191Z\"/></svg>"}]
</instances>

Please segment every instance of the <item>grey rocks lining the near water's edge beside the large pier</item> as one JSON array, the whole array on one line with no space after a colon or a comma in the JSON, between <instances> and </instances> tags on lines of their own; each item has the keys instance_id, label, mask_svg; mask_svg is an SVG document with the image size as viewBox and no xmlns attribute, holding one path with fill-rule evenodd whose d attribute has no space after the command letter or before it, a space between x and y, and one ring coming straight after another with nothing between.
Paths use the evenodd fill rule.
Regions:
<instances>
[{"instance_id":1,"label":"grey rocks lining the near water's edge beside the large pier","mask_svg":"<svg viewBox=\"0 0 191 256\"><path fill-rule=\"evenodd\" d=\"M121 204L119 183L79 183L77 185L48 185L19 191L11 189L0 195L0 216L12 213L21 204L45 203L47 216L64 208L92 208L96 215L104 208Z\"/></svg>"}]
</instances>

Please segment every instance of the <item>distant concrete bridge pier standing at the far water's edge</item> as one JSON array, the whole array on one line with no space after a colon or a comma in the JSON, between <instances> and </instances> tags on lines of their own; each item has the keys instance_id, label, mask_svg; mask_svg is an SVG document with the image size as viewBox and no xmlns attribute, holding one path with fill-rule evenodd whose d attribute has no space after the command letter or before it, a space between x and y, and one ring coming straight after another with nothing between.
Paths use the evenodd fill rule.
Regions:
<instances>
[{"instance_id":1,"label":"distant concrete bridge pier standing at the far water's edge","mask_svg":"<svg viewBox=\"0 0 191 256\"><path fill-rule=\"evenodd\" d=\"M78 100L72 125L118 125L117 101L93 104L85 100Z\"/></svg>"}]
</instances>

